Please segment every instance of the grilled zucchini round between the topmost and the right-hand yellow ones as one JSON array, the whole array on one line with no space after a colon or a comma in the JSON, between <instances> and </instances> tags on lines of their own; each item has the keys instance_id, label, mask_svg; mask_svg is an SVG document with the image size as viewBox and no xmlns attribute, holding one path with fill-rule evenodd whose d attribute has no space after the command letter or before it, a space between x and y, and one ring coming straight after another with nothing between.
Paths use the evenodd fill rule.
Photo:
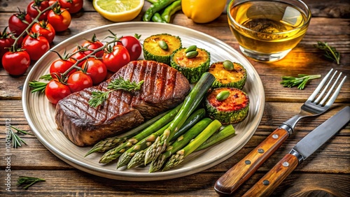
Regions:
<instances>
[{"instance_id":1,"label":"grilled zucchini round between the topmost and the right-hand yellow ones","mask_svg":"<svg viewBox=\"0 0 350 197\"><path fill-rule=\"evenodd\" d=\"M194 52L196 55L192 55ZM190 52L186 52L186 48L181 48L172 54L170 66L183 73L190 83L195 83L200 80L203 73L208 71L210 53L201 48Z\"/></svg>"}]
</instances>

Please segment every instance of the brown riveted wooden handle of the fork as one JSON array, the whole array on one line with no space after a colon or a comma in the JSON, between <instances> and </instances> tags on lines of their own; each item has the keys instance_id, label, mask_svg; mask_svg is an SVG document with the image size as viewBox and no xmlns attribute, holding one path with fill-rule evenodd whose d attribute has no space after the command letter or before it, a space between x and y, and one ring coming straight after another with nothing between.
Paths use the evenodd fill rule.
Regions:
<instances>
[{"instance_id":1,"label":"brown riveted wooden handle of the fork","mask_svg":"<svg viewBox=\"0 0 350 197\"><path fill-rule=\"evenodd\" d=\"M278 128L272 132L258 147L216 181L214 186L216 193L230 195L236 191L286 141L288 136L285 129Z\"/></svg>"}]
</instances>

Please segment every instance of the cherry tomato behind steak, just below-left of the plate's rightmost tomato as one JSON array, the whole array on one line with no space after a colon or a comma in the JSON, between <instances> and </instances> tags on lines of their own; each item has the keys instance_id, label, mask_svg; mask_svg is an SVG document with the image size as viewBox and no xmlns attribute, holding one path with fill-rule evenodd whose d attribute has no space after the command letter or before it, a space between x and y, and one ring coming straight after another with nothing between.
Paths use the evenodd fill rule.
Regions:
<instances>
[{"instance_id":1,"label":"cherry tomato behind steak, just below-left of the plate's rightmost tomato","mask_svg":"<svg viewBox=\"0 0 350 197\"><path fill-rule=\"evenodd\" d=\"M102 61L109 71L116 72L130 62L130 54L123 45L109 46L104 51Z\"/></svg>"}]
</instances>

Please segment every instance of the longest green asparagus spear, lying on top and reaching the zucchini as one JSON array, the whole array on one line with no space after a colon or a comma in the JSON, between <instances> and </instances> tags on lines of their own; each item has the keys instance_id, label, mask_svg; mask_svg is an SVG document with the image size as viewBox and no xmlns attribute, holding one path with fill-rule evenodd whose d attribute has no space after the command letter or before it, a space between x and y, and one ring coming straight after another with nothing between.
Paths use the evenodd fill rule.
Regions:
<instances>
[{"instance_id":1,"label":"longest green asparagus spear, lying on top and reaching the zucchini","mask_svg":"<svg viewBox=\"0 0 350 197\"><path fill-rule=\"evenodd\" d=\"M188 116L197 108L202 101L204 94L207 93L208 89L211 87L215 80L214 75L211 73L203 73L200 80L197 82L195 87L188 96L186 96L185 101L179 110L179 113L174 117L172 124L166 129L162 135L162 138L158 137L155 143L151 145L152 148L148 149L146 152L145 163L149 163L156 159L163 151L165 151L168 142L172 140L172 137L178 131L178 129L183 125Z\"/></svg>"}]
</instances>

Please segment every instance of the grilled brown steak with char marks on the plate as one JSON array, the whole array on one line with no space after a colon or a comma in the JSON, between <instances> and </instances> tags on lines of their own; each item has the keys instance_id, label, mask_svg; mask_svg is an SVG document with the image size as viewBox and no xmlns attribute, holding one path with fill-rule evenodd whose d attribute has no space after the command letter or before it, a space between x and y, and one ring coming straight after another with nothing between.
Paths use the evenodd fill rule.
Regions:
<instances>
[{"instance_id":1,"label":"grilled brown steak with char marks on the plate","mask_svg":"<svg viewBox=\"0 0 350 197\"><path fill-rule=\"evenodd\" d=\"M102 105L92 108L88 104L92 92L107 91L108 83L120 76L132 82L144 80L144 84L135 92L113 91ZM131 61L109 80L59 101L55 120L58 129L74 144L93 145L174 108L189 91L188 80L176 69L155 61Z\"/></svg>"}]
</instances>

